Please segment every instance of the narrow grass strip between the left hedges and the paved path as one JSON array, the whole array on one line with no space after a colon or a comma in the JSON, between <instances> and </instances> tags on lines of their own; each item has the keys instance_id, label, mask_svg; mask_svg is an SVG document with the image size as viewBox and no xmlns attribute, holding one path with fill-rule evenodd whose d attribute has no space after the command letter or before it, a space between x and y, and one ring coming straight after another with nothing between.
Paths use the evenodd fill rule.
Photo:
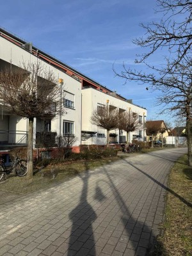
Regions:
<instances>
[{"instance_id":1,"label":"narrow grass strip between the left hedges and the paved path","mask_svg":"<svg viewBox=\"0 0 192 256\"><path fill-rule=\"evenodd\" d=\"M64 163L59 163L55 165L47 166L43 169L44 177L36 170L33 179L28 179L27 177L18 177L15 176L15 173L6 175L6 179L0 182L0 191L12 192L15 194L26 194L38 189L45 188L46 186L53 186L58 182L64 182L69 177L77 175L77 173L84 172L89 169L94 169L103 164L109 164L112 161L118 161L122 157L127 157L128 154L124 156L116 157L106 157L103 159L83 159L78 161L68 161ZM52 179L51 170L53 169L56 173L56 178Z\"/></svg>"}]
</instances>

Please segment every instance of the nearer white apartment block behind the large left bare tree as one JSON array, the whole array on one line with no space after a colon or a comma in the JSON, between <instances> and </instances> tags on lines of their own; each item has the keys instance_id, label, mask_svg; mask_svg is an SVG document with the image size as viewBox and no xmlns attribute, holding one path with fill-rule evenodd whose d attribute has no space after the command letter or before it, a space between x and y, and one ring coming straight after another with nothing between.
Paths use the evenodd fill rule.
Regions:
<instances>
[{"instance_id":1,"label":"nearer white apartment block behind the large left bare tree","mask_svg":"<svg viewBox=\"0 0 192 256\"><path fill-rule=\"evenodd\" d=\"M0 34L1 35L1 34ZM4 36L7 36L6 33ZM25 49L24 44L20 44L17 39L4 38L0 36L0 69L12 65L12 68L22 67L22 63L42 62L45 69L51 70L54 76L62 79L63 83L58 85L61 88L61 100L65 106L65 113L61 116L54 116L50 120L38 120L34 122L34 138L38 132L46 131L53 134L65 134L70 132L76 134L77 141L74 147L81 144L81 83L74 77L67 74L64 70L51 65L48 61L38 58L33 47ZM30 45L29 45L30 46ZM1 86L1 85L0 85ZM65 97L65 98L64 98ZM28 134L28 120L20 116L13 115L10 110L0 106L0 150L8 150L13 146L26 145ZM35 141L34 141L35 145Z\"/></svg>"}]
</instances>

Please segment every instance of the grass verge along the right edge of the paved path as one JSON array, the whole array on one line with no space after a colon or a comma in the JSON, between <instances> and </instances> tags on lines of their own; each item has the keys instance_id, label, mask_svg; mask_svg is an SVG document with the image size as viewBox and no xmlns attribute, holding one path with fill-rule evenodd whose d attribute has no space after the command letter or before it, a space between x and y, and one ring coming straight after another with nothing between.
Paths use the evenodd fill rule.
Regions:
<instances>
[{"instance_id":1,"label":"grass verge along the right edge of the paved path","mask_svg":"<svg viewBox=\"0 0 192 256\"><path fill-rule=\"evenodd\" d=\"M168 188L173 193L166 196L163 232L153 256L192 255L192 168L186 163L187 156L180 157L170 172Z\"/></svg>"}]
</instances>

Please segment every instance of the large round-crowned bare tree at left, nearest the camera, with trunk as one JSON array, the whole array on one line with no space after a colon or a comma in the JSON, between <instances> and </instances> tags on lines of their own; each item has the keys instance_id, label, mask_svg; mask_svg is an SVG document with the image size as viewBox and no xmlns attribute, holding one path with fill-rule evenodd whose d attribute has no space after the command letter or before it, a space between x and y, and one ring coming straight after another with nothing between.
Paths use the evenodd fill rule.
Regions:
<instances>
[{"instance_id":1,"label":"large round-crowned bare tree at left, nearest the camera, with trunk","mask_svg":"<svg viewBox=\"0 0 192 256\"><path fill-rule=\"evenodd\" d=\"M33 177L33 121L60 112L57 79L38 61L1 70L0 84L0 104L29 120L28 177Z\"/></svg>"}]
</instances>

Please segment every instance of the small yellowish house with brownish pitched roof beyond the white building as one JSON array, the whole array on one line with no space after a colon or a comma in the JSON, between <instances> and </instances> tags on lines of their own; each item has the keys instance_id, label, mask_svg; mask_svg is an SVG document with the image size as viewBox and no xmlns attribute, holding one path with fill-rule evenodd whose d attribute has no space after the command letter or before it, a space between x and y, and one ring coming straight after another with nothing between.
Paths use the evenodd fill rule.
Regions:
<instances>
[{"instance_id":1,"label":"small yellowish house with brownish pitched roof beyond the white building","mask_svg":"<svg viewBox=\"0 0 192 256\"><path fill-rule=\"evenodd\" d=\"M147 132L147 141L152 141L152 134L150 131L150 127L154 127L156 129L156 133L153 134L154 136L154 141L159 140L162 141L163 143L166 143L166 137L169 136L169 129L166 128L166 124L164 124L163 120L152 120L152 121L147 121L146 122L146 127L149 127Z\"/></svg>"}]
</instances>

